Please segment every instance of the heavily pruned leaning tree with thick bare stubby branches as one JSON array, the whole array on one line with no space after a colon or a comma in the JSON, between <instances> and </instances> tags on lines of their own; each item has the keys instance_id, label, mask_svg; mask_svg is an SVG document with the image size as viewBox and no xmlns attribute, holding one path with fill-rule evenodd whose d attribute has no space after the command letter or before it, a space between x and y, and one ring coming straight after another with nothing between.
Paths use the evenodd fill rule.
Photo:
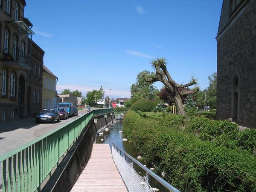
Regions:
<instances>
[{"instance_id":1,"label":"heavily pruned leaning tree with thick bare stubby branches","mask_svg":"<svg viewBox=\"0 0 256 192\"><path fill-rule=\"evenodd\" d=\"M189 94L195 94L199 91L199 88L195 87L191 90L186 90L182 88L195 85L197 83L195 78L192 78L192 81L190 83L178 84L175 80L172 79L171 75L169 74L166 68L165 58L157 58L155 60L152 60L151 64L154 67L155 72L152 72L150 75L145 75L145 80L150 83L154 83L157 81L162 82L165 85L166 91L169 92L169 94L172 95L175 100L177 106L177 113L180 115L185 115L182 97Z\"/></svg>"}]
</instances>

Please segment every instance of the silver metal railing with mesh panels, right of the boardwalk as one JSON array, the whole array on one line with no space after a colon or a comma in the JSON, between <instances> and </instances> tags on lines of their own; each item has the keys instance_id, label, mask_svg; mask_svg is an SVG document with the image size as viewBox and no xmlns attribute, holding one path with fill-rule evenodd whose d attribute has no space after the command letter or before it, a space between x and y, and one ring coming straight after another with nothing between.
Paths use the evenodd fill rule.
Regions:
<instances>
[{"instance_id":1,"label":"silver metal railing with mesh panels, right of the boardwalk","mask_svg":"<svg viewBox=\"0 0 256 192\"><path fill-rule=\"evenodd\" d=\"M131 155L116 146L114 143L112 143L112 157L129 192L154 192L155 189L152 188L148 183L149 177L153 177L169 191L179 192L178 189L160 178L150 169L146 168L142 163L131 157ZM126 158L129 158L129 160L127 161ZM134 163L136 163L146 172L145 177L140 176L135 171Z\"/></svg>"}]
</instances>

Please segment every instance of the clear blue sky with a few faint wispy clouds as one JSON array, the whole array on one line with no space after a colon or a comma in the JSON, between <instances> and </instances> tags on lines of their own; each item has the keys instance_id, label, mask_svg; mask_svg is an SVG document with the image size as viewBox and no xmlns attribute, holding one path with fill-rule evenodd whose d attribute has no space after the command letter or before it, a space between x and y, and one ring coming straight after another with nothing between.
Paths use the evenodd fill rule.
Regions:
<instances>
[{"instance_id":1,"label":"clear blue sky with a few faint wispy clouds","mask_svg":"<svg viewBox=\"0 0 256 192\"><path fill-rule=\"evenodd\" d=\"M216 71L222 0L26 0L33 40L58 77L57 91L130 97L137 74L165 57L172 78L208 86ZM155 84L160 89L163 84Z\"/></svg>"}]
</instances>

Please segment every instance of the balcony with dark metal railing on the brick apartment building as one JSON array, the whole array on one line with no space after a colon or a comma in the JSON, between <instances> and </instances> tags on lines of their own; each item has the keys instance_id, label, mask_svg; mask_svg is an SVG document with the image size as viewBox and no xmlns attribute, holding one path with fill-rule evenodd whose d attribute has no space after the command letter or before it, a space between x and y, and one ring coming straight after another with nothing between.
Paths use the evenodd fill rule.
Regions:
<instances>
[{"instance_id":1,"label":"balcony with dark metal railing on the brick apartment building","mask_svg":"<svg viewBox=\"0 0 256 192\"><path fill-rule=\"evenodd\" d=\"M3 64L15 69L31 70L31 56L19 49L4 49Z\"/></svg>"}]
</instances>

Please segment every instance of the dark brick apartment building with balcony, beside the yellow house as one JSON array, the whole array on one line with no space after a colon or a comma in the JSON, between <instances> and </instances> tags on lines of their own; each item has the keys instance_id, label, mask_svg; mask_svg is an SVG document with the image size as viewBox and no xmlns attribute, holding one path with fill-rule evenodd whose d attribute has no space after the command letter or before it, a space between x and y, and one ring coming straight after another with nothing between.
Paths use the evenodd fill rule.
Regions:
<instances>
[{"instance_id":1,"label":"dark brick apartment building with balcony, beside the yellow house","mask_svg":"<svg viewBox=\"0 0 256 192\"><path fill-rule=\"evenodd\" d=\"M0 122L26 118L40 110L32 101L34 89L35 95L41 95L42 77L37 72L44 51L32 41L33 25L24 17L25 6L25 0L0 0Z\"/></svg>"}]
</instances>

